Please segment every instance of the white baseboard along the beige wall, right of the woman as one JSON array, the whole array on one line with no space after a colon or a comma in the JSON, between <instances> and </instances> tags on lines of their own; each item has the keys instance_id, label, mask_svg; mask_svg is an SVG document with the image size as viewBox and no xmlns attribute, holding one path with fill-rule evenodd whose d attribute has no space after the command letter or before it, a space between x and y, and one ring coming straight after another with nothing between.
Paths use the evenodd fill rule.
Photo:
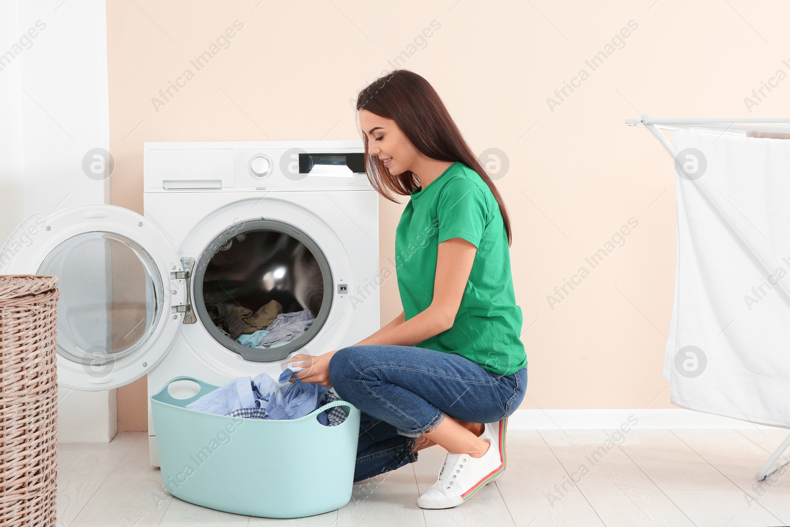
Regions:
<instances>
[{"instance_id":1,"label":"white baseboard along the beige wall, right of the woman","mask_svg":"<svg viewBox=\"0 0 790 527\"><path fill-rule=\"evenodd\" d=\"M628 418L631 417L629 421ZM638 423L634 425L634 419ZM507 420L509 430L586 430L619 428L787 428L768 427L732 417L694 412L686 408L592 408L580 410L519 409ZM790 431L788 431L790 433Z\"/></svg>"}]
</instances>

